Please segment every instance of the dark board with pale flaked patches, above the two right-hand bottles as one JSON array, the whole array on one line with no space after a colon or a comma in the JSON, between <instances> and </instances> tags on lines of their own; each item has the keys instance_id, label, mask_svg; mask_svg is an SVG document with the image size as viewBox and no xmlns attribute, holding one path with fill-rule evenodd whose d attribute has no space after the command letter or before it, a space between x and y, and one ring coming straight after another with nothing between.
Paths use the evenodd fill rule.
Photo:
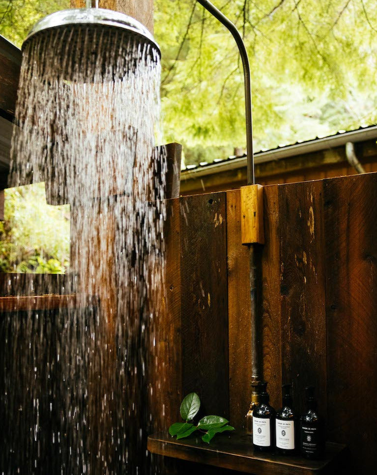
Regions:
<instances>
[{"instance_id":1,"label":"dark board with pale flaked patches, above the two right-hand bottles","mask_svg":"<svg viewBox=\"0 0 377 475\"><path fill-rule=\"evenodd\" d=\"M326 414L325 262L322 182L279 187L282 381L304 411L305 386L315 386Z\"/></svg>"}]
</instances>

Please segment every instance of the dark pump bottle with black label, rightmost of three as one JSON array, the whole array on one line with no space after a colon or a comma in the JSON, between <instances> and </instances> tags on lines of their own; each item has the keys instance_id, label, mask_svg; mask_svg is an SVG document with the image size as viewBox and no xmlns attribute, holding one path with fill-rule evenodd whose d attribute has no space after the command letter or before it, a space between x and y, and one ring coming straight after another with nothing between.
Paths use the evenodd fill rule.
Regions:
<instances>
[{"instance_id":1,"label":"dark pump bottle with black label, rightmost of three","mask_svg":"<svg viewBox=\"0 0 377 475\"><path fill-rule=\"evenodd\" d=\"M314 388L305 388L306 412L300 420L300 449L306 458L321 458L324 453L324 423L317 412Z\"/></svg>"}]
</instances>

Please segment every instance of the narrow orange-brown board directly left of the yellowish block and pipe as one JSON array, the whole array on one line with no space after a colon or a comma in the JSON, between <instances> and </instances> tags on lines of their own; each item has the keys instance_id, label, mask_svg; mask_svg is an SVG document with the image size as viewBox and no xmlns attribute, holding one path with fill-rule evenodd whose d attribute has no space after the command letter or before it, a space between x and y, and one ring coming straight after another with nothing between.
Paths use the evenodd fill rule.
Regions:
<instances>
[{"instance_id":1,"label":"narrow orange-brown board directly left of the yellowish block and pipe","mask_svg":"<svg viewBox=\"0 0 377 475\"><path fill-rule=\"evenodd\" d=\"M245 423L251 402L249 250L241 241L240 191L227 192L230 421Z\"/></svg>"}]
</instances>

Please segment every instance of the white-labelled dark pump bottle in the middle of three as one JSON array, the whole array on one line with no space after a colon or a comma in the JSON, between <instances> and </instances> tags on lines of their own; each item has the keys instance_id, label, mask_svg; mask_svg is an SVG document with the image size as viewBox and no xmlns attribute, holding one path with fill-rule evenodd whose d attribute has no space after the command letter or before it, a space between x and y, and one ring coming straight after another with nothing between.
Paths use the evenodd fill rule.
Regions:
<instances>
[{"instance_id":1,"label":"white-labelled dark pump bottle in the middle of three","mask_svg":"<svg viewBox=\"0 0 377 475\"><path fill-rule=\"evenodd\" d=\"M279 453L294 454L297 450L297 417L293 411L292 385L285 384L283 407L276 413L276 450Z\"/></svg>"}]
</instances>

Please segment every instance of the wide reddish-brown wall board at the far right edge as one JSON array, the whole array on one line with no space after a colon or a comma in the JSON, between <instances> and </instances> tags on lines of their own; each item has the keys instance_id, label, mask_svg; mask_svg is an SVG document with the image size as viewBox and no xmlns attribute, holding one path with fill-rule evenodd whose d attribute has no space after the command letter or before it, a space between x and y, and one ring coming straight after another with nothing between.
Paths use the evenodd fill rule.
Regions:
<instances>
[{"instance_id":1,"label":"wide reddish-brown wall board at the far right edge","mask_svg":"<svg viewBox=\"0 0 377 475\"><path fill-rule=\"evenodd\" d=\"M376 470L377 174L324 181L328 434Z\"/></svg>"}]
</instances>

